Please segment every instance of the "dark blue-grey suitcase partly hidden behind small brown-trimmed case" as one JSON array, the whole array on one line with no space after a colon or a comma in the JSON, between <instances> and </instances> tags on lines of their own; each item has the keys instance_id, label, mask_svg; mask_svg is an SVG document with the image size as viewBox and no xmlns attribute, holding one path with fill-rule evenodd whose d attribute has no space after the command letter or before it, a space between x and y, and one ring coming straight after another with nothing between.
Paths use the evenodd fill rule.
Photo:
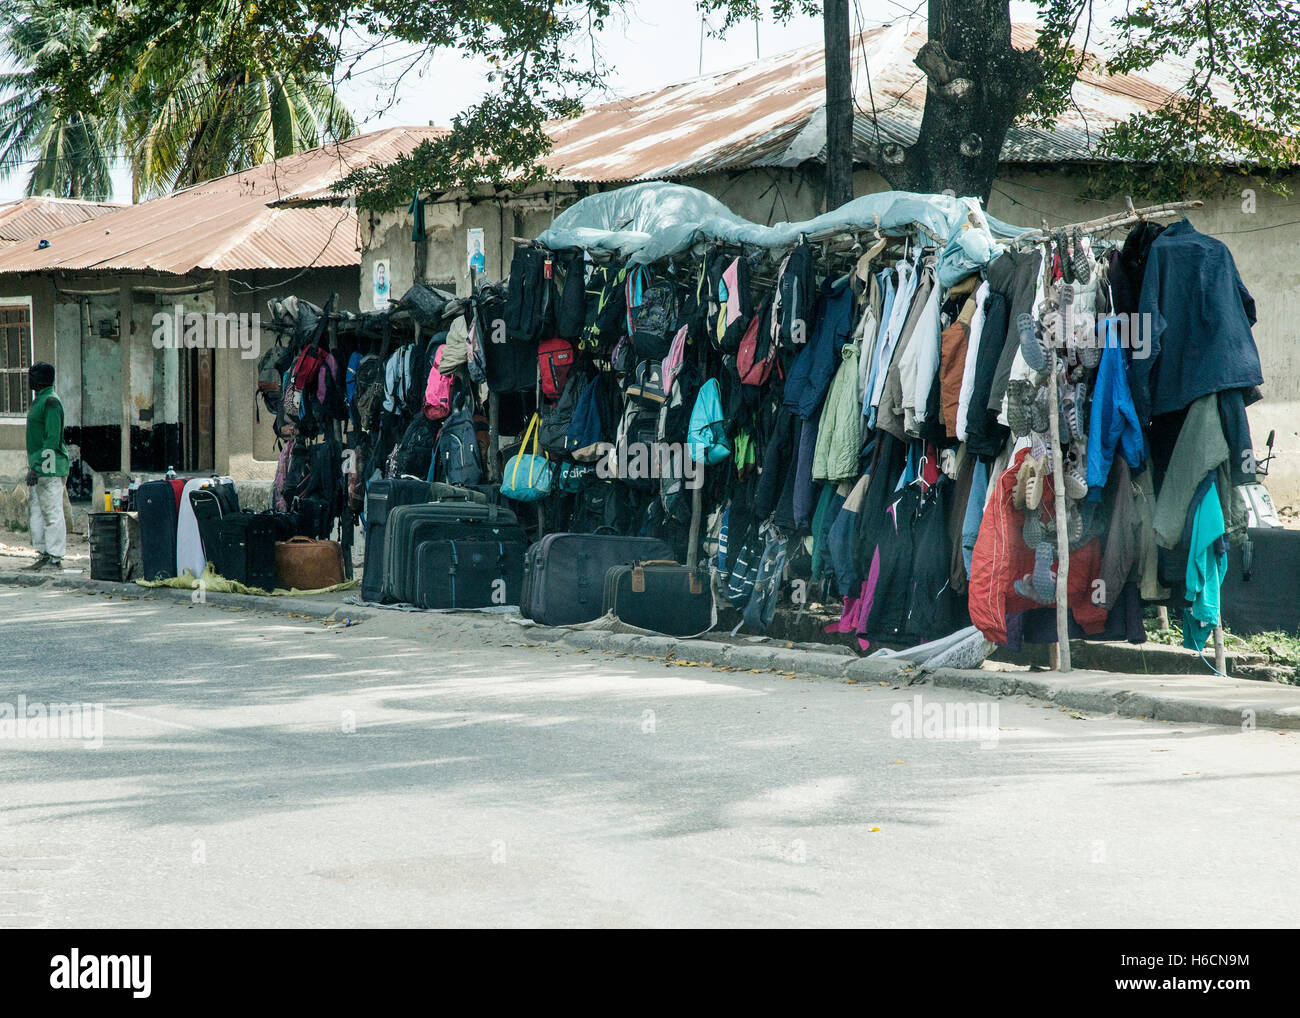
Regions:
<instances>
[{"instance_id":1,"label":"dark blue-grey suitcase partly hidden behind small brown-trimmed case","mask_svg":"<svg viewBox=\"0 0 1300 1018\"><path fill-rule=\"evenodd\" d=\"M520 614L543 625L599 619L611 568L662 559L672 559L672 549L658 537L547 534L524 559Z\"/></svg>"}]
</instances>

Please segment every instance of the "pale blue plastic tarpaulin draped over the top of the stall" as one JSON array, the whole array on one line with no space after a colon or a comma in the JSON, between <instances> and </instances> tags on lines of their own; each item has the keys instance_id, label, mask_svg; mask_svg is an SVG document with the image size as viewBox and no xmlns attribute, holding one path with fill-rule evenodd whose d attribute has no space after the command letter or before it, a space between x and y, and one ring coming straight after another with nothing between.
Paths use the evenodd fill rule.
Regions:
<instances>
[{"instance_id":1,"label":"pale blue plastic tarpaulin draped over the top of the stall","mask_svg":"<svg viewBox=\"0 0 1300 1018\"><path fill-rule=\"evenodd\" d=\"M556 216L537 242L551 251L582 247L650 263L711 241L784 248L798 243L801 235L871 229L910 233L940 247L944 286L988 264L1005 241L1030 230L989 216L974 198L910 191L862 195L805 222L760 226L696 187L647 181L588 195Z\"/></svg>"}]
</instances>

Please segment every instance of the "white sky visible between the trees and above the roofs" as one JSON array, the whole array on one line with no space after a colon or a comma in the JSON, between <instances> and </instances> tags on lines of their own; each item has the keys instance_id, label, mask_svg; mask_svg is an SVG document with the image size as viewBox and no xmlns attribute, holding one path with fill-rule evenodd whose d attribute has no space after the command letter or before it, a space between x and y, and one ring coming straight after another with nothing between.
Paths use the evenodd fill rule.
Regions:
<instances>
[{"instance_id":1,"label":"white sky visible between the trees and above the roofs","mask_svg":"<svg viewBox=\"0 0 1300 1018\"><path fill-rule=\"evenodd\" d=\"M855 0L850 3L850 23L880 25L907 17L924 0ZM1036 5L1015 0L1013 16L1031 20ZM610 65L607 96L633 95L685 81L701 72L712 74L754 59L757 52L771 56L822 42L822 18L798 17L786 25L760 23L758 38L753 22L733 27L725 38L706 36L701 44L701 16L694 0L640 0L623 16L615 14L599 36ZM360 40L358 40L360 42ZM341 94L361 131L396 125L448 124L454 113L482 95L482 70L455 51L438 51L404 75L394 92L394 79L410 61L403 59L413 47L389 44L361 56L355 77L343 82ZM18 198L26 174L18 172L0 179L0 200ZM114 199L130 202L130 177L118 166L113 173Z\"/></svg>"}]
</instances>

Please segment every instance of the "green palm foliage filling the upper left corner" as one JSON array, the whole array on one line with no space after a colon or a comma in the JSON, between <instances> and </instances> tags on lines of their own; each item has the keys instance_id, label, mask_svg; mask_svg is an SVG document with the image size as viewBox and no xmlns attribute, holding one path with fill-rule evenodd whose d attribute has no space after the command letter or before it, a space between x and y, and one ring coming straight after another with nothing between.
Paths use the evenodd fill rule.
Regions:
<instances>
[{"instance_id":1,"label":"green palm foliage filling the upper left corner","mask_svg":"<svg viewBox=\"0 0 1300 1018\"><path fill-rule=\"evenodd\" d=\"M302 47L266 38L239 8L188 34L155 12L87 0L21 0L0 16L0 174L31 164L29 194L103 199L125 156L136 198L165 194L355 133ZM248 5L251 9L252 5ZM144 18L144 29L122 34Z\"/></svg>"}]
</instances>

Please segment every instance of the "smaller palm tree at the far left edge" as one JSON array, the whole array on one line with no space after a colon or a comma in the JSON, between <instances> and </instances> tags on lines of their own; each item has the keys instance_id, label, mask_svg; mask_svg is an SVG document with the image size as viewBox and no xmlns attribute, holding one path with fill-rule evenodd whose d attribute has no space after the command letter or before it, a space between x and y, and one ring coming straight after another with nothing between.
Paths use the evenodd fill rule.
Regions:
<instances>
[{"instance_id":1,"label":"smaller palm tree at the far left edge","mask_svg":"<svg viewBox=\"0 0 1300 1018\"><path fill-rule=\"evenodd\" d=\"M0 177L31 166L27 194L107 200L113 191L116 131L110 120L69 111L57 90L43 85L38 66L69 46L94 39L77 12L20 4L0 25Z\"/></svg>"}]
</instances>

